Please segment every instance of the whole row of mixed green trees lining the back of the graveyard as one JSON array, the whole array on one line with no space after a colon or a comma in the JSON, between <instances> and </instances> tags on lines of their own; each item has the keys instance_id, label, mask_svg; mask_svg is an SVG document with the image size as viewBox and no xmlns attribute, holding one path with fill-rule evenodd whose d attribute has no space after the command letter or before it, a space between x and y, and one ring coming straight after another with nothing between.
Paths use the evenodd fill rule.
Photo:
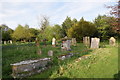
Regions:
<instances>
[{"instance_id":1,"label":"whole row of mixed green trees lining the back of the graveyard","mask_svg":"<svg viewBox=\"0 0 120 80\"><path fill-rule=\"evenodd\" d=\"M55 24L51 26L47 18L43 18L39 29L29 28L29 25L18 25L15 30L12 30L7 25L0 25L2 31L2 40L8 41L35 41L47 39L51 41L53 37L57 40L68 36L76 38L77 41L82 40L84 36L99 37L102 40L109 37L119 37L117 29L115 29L116 18L106 15L98 15L93 22L86 21L83 17L80 20L66 17L61 25ZM12 27L12 26L11 26Z\"/></svg>"}]
</instances>

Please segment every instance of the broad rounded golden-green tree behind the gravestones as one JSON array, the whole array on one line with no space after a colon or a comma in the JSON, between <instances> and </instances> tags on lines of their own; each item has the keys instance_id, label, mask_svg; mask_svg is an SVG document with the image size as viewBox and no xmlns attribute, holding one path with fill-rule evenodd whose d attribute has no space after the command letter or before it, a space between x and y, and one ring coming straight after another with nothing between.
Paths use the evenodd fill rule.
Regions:
<instances>
[{"instance_id":1,"label":"broad rounded golden-green tree behind the gravestones","mask_svg":"<svg viewBox=\"0 0 120 80\"><path fill-rule=\"evenodd\" d=\"M84 36L93 36L96 32L95 25L91 22L85 21L83 18L70 29L68 29L68 36L82 40Z\"/></svg>"}]
</instances>

